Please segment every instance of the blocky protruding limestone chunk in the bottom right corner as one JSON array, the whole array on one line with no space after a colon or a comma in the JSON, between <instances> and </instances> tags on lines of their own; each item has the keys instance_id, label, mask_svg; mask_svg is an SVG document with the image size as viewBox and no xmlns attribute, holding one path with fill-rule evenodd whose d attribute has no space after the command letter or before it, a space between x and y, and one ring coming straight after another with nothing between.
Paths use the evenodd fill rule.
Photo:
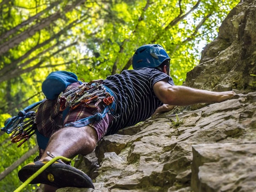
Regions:
<instances>
[{"instance_id":1,"label":"blocky protruding limestone chunk in the bottom right corner","mask_svg":"<svg viewBox=\"0 0 256 192\"><path fill-rule=\"evenodd\" d=\"M256 143L193 145L194 191L255 191Z\"/></svg>"}]
</instances>

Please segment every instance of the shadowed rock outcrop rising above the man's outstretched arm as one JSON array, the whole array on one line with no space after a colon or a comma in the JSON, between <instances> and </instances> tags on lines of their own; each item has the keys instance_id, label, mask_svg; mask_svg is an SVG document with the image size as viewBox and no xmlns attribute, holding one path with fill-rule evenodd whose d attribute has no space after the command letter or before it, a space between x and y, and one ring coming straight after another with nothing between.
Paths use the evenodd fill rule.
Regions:
<instances>
[{"instance_id":1,"label":"shadowed rock outcrop rising above the man's outstretched arm","mask_svg":"<svg viewBox=\"0 0 256 192\"><path fill-rule=\"evenodd\" d=\"M241 1L219 28L219 36L204 47L202 58L187 73L183 85L197 89L255 91L255 0ZM248 92L247 91L247 92Z\"/></svg>"}]
</instances>

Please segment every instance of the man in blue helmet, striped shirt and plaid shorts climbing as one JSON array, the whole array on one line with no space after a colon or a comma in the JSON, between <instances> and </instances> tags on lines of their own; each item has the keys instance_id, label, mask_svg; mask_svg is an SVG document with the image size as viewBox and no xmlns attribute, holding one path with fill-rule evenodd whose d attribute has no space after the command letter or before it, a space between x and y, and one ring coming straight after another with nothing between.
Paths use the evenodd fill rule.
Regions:
<instances>
[{"instance_id":1,"label":"man in blue helmet, striped shirt and plaid shorts climbing","mask_svg":"<svg viewBox=\"0 0 256 192\"><path fill-rule=\"evenodd\" d=\"M49 138L46 149L40 148L39 159L22 167L18 176L22 182L39 170L54 156L74 158L78 154L91 153L104 135L116 133L119 129L145 121L153 113L169 111L173 106L187 106L195 103L222 102L235 95L234 91L214 92L176 86L170 77L170 57L159 44L139 47L133 55L133 70L111 75L103 81L114 97L114 112L103 118L82 124L81 119L101 113L98 108L79 105L70 110L64 120L57 100L45 100L36 114L37 129ZM75 82L66 88L78 87ZM164 105L165 104L165 105ZM78 123L83 126L77 126ZM66 126L65 126L66 125ZM40 146L39 146L40 147ZM44 183L57 188L94 188L91 179L82 171L56 161L37 176L31 184Z\"/></svg>"}]
</instances>

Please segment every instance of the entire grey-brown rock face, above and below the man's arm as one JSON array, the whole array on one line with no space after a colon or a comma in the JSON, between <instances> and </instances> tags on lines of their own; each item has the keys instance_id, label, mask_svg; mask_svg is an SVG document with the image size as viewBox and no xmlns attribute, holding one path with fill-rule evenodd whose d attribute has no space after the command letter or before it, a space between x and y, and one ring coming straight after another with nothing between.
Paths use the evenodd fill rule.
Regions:
<instances>
[{"instance_id":1,"label":"entire grey-brown rock face, above and below the man's arm","mask_svg":"<svg viewBox=\"0 0 256 192\"><path fill-rule=\"evenodd\" d=\"M79 166L95 190L58 192L256 191L255 5L244 0L230 12L184 82L198 89L235 89L238 95L176 108L184 120L177 127L172 111L104 137Z\"/></svg>"}]
</instances>

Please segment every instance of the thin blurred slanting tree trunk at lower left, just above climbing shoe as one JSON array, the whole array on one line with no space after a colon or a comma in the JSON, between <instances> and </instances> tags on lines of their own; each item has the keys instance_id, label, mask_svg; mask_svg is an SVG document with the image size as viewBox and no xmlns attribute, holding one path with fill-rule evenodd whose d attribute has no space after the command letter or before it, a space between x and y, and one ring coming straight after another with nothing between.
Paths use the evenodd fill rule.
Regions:
<instances>
[{"instance_id":1,"label":"thin blurred slanting tree trunk at lower left, just above climbing shoe","mask_svg":"<svg viewBox=\"0 0 256 192\"><path fill-rule=\"evenodd\" d=\"M0 181L5 178L10 172L16 169L17 166L22 164L27 158L38 151L38 145L34 146L33 149L30 149L27 153L25 153L20 159L15 161L11 166L7 167L3 172L0 173Z\"/></svg>"}]
</instances>

